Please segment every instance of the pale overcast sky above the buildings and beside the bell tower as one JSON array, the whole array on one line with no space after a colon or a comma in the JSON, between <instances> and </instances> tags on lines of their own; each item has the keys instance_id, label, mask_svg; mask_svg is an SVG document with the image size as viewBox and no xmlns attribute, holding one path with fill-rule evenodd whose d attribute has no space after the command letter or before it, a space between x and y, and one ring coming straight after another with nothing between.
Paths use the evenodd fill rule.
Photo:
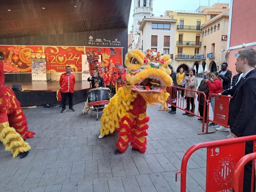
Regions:
<instances>
[{"instance_id":1,"label":"pale overcast sky above the buildings and beside the bell tower","mask_svg":"<svg viewBox=\"0 0 256 192\"><path fill-rule=\"evenodd\" d=\"M212 6L214 3L230 3L230 0L153 0L153 14L154 16L164 15L166 10L184 10L195 11L198 6ZM128 33L131 31L134 14L134 0L131 1L131 12L128 25Z\"/></svg>"}]
</instances>

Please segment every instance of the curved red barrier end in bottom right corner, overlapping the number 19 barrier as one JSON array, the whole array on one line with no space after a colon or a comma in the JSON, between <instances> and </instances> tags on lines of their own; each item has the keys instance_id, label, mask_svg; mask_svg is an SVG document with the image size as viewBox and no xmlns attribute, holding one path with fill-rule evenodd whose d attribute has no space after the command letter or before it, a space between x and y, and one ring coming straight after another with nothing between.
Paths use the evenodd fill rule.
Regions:
<instances>
[{"instance_id":1,"label":"curved red barrier end in bottom right corner, overlapping the number 19 barrier","mask_svg":"<svg viewBox=\"0 0 256 192\"><path fill-rule=\"evenodd\" d=\"M254 145L255 146L255 143ZM251 182L251 192L253 192L253 181L254 181L254 172L255 172L255 163L254 160L256 159L256 153L250 153L245 155L244 157L242 157L235 166L234 172L233 172L233 176L232 176L232 188L233 188L233 192L242 192L243 191L243 186L239 185L241 184L241 182L239 182L239 180L241 180L242 178L240 177L242 171L244 170L244 166L246 163L248 163L249 161L253 160L253 166L252 166L252 182Z\"/></svg>"}]
</instances>

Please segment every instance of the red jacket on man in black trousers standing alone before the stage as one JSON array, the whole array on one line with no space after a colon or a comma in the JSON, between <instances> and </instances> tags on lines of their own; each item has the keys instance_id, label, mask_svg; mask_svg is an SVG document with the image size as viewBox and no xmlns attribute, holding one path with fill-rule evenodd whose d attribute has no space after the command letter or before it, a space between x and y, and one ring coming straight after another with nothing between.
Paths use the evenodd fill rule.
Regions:
<instances>
[{"instance_id":1,"label":"red jacket on man in black trousers standing alone before the stage","mask_svg":"<svg viewBox=\"0 0 256 192\"><path fill-rule=\"evenodd\" d=\"M73 74L67 75L67 73L61 74L60 86L62 93L74 93L75 76Z\"/></svg>"}]
</instances>

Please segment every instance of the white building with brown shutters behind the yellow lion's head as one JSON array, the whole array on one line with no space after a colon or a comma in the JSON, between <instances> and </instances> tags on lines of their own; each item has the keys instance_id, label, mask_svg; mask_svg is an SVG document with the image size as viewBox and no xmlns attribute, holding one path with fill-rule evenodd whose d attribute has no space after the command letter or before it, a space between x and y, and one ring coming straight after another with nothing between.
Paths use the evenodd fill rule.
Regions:
<instances>
[{"instance_id":1,"label":"white building with brown shutters behind the yellow lion's head","mask_svg":"<svg viewBox=\"0 0 256 192\"><path fill-rule=\"evenodd\" d=\"M177 20L173 17L149 17L139 21L139 49L153 49L163 54L175 54L175 30Z\"/></svg>"}]
</instances>

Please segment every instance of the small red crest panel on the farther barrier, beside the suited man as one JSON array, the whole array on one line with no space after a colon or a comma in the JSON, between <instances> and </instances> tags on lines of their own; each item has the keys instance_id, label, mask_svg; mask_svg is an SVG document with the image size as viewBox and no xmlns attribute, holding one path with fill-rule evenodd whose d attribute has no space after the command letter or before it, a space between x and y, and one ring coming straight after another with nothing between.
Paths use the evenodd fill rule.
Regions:
<instances>
[{"instance_id":1,"label":"small red crest panel on the farther barrier, beside the suited man","mask_svg":"<svg viewBox=\"0 0 256 192\"><path fill-rule=\"evenodd\" d=\"M229 111L229 98L228 97L215 97L215 107L213 120L222 125L228 123L228 111Z\"/></svg>"}]
</instances>

